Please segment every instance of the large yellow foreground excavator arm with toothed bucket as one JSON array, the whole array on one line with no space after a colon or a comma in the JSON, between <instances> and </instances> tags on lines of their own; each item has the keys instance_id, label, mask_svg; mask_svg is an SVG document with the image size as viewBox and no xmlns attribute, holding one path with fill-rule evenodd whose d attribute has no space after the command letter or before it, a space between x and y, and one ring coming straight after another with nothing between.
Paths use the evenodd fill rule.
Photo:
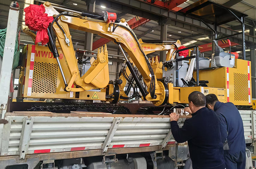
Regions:
<instances>
[{"instance_id":1,"label":"large yellow foreground excavator arm with toothed bucket","mask_svg":"<svg viewBox=\"0 0 256 169\"><path fill-rule=\"evenodd\" d=\"M71 35L69 32L69 28L72 28L75 30L98 34L116 43L126 59L127 67L132 73L132 76L138 85L140 92L142 93L142 98L144 100L152 101L156 105L166 103L167 98L165 97L168 96L168 89L164 90L163 93L163 87L165 85L165 88L167 88L167 83L165 81L166 84L162 84L163 82L157 81L146 53L125 19L121 19L119 23L106 22L99 20L98 18L83 17L72 12L62 12L60 14L49 2L44 3L44 6L46 11L45 13L47 13L48 16L55 17L54 20L56 22L53 21L52 29L54 29L56 38L59 42L61 51L65 56L65 61L69 69L71 78L70 81L67 82L66 91L80 92L95 88L106 88L108 85L107 83L109 82L109 77L107 77L108 53L106 46L104 51L102 48L101 53L98 53L96 60L90 60L92 65L91 68L88 70L88 72L86 72L86 74L80 77ZM65 16L63 14L65 14ZM53 30L48 30L50 38L53 34L52 32ZM54 49L52 49L52 51L53 50ZM138 71L142 75L147 88L145 88L144 84L142 84L142 82L139 80L138 73L136 73L134 65L125 56L124 50L128 53L133 64L137 67ZM64 76L63 79L65 81ZM71 87L73 84L76 85L76 88ZM159 85L161 87L159 87ZM163 97L163 94L165 97Z\"/></svg>"}]
</instances>

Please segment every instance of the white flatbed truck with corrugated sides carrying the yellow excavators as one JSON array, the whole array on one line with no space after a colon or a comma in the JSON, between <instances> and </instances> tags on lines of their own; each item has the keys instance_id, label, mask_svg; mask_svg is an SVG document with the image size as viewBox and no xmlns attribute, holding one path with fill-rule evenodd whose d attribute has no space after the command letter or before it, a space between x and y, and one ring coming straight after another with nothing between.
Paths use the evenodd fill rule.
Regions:
<instances>
[{"instance_id":1,"label":"white flatbed truck with corrugated sides carrying the yellow excavators","mask_svg":"<svg viewBox=\"0 0 256 169\"><path fill-rule=\"evenodd\" d=\"M256 111L240 113L250 144L255 137ZM188 118L181 117L180 126ZM11 112L4 119L8 123L1 138L1 169L176 169L191 165L187 143L177 144L172 137L169 116Z\"/></svg>"}]
</instances>

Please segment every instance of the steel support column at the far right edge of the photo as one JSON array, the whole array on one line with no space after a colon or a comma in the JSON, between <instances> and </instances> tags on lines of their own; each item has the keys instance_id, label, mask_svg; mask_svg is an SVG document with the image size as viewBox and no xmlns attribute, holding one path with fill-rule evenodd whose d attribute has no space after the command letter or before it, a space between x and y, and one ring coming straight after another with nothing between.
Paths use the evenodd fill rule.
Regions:
<instances>
[{"instance_id":1,"label":"steel support column at the far right edge of the photo","mask_svg":"<svg viewBox=\"0 0 256 169\"><path fill-rule=\"evenodd\" d=\"M250 35L255 36L255 28L250 29ZM252 71L252 98L256 98L256 50L255 48L250 48L250 60L251 60L251 71Z\"/></svg>"}]
</instances>

